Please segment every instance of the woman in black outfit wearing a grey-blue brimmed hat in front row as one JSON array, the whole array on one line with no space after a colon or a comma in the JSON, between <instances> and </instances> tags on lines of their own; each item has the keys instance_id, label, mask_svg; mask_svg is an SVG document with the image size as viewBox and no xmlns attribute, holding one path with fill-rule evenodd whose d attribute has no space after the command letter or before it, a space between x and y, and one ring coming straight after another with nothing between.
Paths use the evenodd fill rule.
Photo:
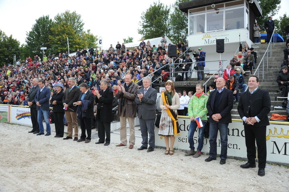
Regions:
<instances>
[{"instance_id":1,"label":"woman in black outfit wearing a grey-blue brimmed hat in front row","mask_svg":"<svg viewBox=\"0 0 289 192\"><path fill-rule=\"evenodd\" d=\"M56 83L54 85L54 88L56 89L56 92L53 94L50 103L52 105L52 111L53 111L53 120L55 124L55 132L56 135L54 137L63 137L64 133L64 109L63 109L63 103L62 98L64 96L64 86L61 83Z\"/></svg>"}]
</instances>

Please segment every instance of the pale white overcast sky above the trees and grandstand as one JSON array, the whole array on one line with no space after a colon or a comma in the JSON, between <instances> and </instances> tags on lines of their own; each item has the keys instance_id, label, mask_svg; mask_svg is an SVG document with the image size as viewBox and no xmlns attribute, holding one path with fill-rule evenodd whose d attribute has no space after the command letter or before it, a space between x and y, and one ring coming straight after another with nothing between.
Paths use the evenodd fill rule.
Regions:
<instances>
[{"instance_id":1,"label":"pale white overcast sky above the trees and grandstand","mask_svg":"<svg viewBox=\"0 0 289 192\"><path fill-rule=\"evenodd\" d=\"M84 30L97 37L103 38L103 46L115 45L117 41L123 42L128 36L139 40L138 34L140 16L143 11L157 0L153 1L39 1L39 0L0 0L0 29L20 43L25 43L26 31L30 31L35 20L42 15L49 15L51 19L58 13L70 10L81 14ZM175 0L160 0L170 5ZM281 1L281 9L277 16L286 13L289 7L288 0ZM289 14L289 11L287 11Z\"/></svg>"}]
</instances>

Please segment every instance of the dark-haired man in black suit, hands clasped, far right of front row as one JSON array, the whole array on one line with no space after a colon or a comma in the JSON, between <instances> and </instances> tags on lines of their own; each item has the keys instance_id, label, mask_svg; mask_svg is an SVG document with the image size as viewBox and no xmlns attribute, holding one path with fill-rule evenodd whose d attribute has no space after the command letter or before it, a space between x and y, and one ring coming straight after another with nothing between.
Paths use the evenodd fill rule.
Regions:
<instances>
[{"instance_id":1,"label":"dark-haired man in black suit, hands clasped, far right of front row","mask_svg":"<svg viewBox=\"0 0 289 192\"><path fill-rule=\"evenodd\" d=\"M248 162L240 167L256 167L256 146L258 148L258 175L265 175L266 165L266 126L269 125L271 99L268 91L258 88L259 78L252 75L248 81L249 90L240 96L238 113L243 120Z\"/></svg>"}]
</instances>

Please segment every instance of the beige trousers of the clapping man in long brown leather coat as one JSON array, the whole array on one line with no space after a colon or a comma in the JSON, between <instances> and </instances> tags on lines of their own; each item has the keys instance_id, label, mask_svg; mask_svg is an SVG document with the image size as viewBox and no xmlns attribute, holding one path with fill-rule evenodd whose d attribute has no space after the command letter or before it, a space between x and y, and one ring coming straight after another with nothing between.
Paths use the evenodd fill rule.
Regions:
<instances>
[{"instance_id":1,"label":"beige trousers of the clapping man in long brown leather coat","mask_svg":"<svg viewBox=\"0 0 289 192\"><path fill-rule=\"evenodd\" d=\"M119 117L121 123L120 135L121 135L121 143L127 145L127 129L126 129L126 120L128 120L129 124L129 145L134 145L136 142L136 136L134 133L134 117L123 117L123 112Z\"/></svg>"}]
</instances>

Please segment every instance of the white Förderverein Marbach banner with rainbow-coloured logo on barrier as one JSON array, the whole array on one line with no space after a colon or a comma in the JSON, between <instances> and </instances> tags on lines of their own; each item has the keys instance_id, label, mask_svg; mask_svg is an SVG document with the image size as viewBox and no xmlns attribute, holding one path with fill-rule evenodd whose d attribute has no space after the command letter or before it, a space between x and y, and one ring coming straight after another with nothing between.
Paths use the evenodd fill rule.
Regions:
<instances>
[{"instance_id":1,"label":"white F\u00f6rderverein Marbach banner with rainbow-coloured logo on barrier","mask_svg":"<svg viewBox=\"0 0 289 192\"><path fill-rule=\"evenodd\" d=\"M32 125L30 120L30 108L11 106L11 122Z\"/></svg>"}]
</instances>

